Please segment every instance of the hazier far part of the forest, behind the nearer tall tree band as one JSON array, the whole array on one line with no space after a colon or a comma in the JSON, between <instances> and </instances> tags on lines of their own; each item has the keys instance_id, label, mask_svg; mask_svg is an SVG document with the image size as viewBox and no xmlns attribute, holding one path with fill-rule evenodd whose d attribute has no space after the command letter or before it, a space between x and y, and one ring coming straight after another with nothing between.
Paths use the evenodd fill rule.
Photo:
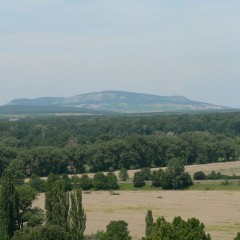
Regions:
<instances>
[{"instance_id":1,"label":"hazier far part of the forest, behind the nearer tall tree band","mask_svg":"<svg viewBox=\"0 0 240 240\"><path fill-rule=\"evenodd\" d=\"M64 147L132 135L209 132L238 137L240 113L65 116L0 120L1 141L13 147Z\"/></svg>"}]
</instances>

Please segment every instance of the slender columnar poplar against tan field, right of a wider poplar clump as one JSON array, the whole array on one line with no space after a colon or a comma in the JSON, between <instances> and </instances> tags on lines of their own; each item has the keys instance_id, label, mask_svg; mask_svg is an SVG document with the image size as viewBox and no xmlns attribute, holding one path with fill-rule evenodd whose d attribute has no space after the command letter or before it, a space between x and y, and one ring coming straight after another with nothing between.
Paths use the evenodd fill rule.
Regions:
<instances>
[{"instance_id":1,"label":"slender columnar poplar against tan field, right of a wider poplar clump","mask_svg":"<svg viewBox=\"0 0 240 240\"><path fill-rule=\"evenodd\" d=\"M82 240L86 229L86 214L82 206L82 191L74 190L70 193L69 231L72 240Z\"/></svg>"}]
</instances>

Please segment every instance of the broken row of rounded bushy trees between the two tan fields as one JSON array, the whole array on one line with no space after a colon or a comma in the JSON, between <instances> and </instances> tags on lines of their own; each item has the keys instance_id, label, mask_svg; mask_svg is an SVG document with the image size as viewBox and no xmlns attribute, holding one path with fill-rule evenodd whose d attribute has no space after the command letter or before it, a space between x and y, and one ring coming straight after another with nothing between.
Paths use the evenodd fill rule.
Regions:
<instances>
[{"instance_id":1,"label":"broken row of rounded bushy trees between the two tan fields","mask_svg":"<svg viewBox=\"0 0 240 240\"><path fill-rule=\"evenodd\" d=\"M81 177L74 175L71 178L64 174L55 176L55 178L64 181L68 191L73 189L115 190L119 188L119 180L126 181L129 179L125 168L119 171L118 178L111 171L107 174L95 173L93 178L90 178L87 174L83 174ZM193 184L190 175L184 171L184 163L180 159L171 159L165 171L159 169L151 172L150 168L143 168L134 173L132 181L134 187L137 188L145 186L146 181L151 181L153 187L162 187L162 189L184 189ZM48 189L46 181L36 175L31 176L28 185L37 192L46 192Z\"/></svg>"}]
</instances>

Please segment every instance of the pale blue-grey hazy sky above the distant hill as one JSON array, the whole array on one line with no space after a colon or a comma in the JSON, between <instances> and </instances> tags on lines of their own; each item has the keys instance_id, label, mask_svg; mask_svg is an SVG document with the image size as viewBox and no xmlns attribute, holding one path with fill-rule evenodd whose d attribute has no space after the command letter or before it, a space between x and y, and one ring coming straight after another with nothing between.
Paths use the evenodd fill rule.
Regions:
<instances>
[{"instance_id":1,"label":"pale blue-grey hazy sky above the distant hill","mask_svg":"<svg viewBox=\"0 0 240 240\"><path fill-rule=\"evenodd\" d=\"M240 1L0 0L0 105L102 90L240 106Z\"/></svg>"}]
</instances>

